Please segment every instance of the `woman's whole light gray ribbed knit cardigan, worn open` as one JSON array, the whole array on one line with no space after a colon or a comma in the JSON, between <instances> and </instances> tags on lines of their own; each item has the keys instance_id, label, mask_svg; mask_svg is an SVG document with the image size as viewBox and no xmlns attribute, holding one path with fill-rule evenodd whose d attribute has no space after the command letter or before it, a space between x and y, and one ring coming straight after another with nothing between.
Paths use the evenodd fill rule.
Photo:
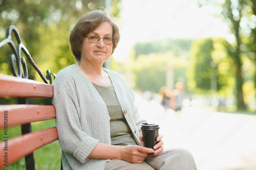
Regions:
<instances>
[{"instance_id":1,"label":"woman's whole light gray ribbed knit cardigan, worn open","mask_svg":"<svg viewBox=\"0 0 256 170\"><path fill-rule=\"evenodd\" d=\"M141 119L134 93L116 72L104 69L113 83L123 114L138 145ZM54 80L56 128L64 170L103 170L108 159L89 158L98 142L111 144L107 107L78 62L62 69Z\"/></svg>"}]
</instances>

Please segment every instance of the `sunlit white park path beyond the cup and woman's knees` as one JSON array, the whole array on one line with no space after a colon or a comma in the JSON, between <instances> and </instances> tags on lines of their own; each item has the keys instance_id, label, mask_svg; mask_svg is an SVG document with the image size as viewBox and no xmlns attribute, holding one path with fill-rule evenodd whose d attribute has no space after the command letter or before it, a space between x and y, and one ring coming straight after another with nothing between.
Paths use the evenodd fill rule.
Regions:
<instances>
[{"instance_id":1,"label":"sunlit white park path beyond the cup and woman's knees","mask_svg":"<svg viewBox=\"0 0 256 170\"><path fill-rule=\"evenodd\" d=\"M256 116L186 107L175 115L155 100L140 102L139 112L160 126L164 147L186 148L200 170L256 170Z\"/></svg>"}]
</instances>

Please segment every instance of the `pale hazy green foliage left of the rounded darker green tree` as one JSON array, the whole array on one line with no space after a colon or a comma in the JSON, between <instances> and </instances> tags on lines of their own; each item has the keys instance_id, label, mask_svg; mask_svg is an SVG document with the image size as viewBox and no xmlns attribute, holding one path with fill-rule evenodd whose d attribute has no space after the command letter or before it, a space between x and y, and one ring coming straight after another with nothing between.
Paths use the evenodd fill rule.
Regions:
<instances>
[{"instance_id":1,"label":"pale hazy green foliage left of the rounded darker green tree","mask_svg":"<svg viewBox=\"0 0 256 170\"><path fill-rule=\"evenodd\" d=\"M125 77L134 80L135 90L159 92L168 83L167 72L173 72L172 86L178 81L186 84L189 50L184 51L189 39L165 38L151 42L137 42L126 58ZM172 74L172 73L171 73ZM129 81L127 81L129 83ZM133 86L132 86L133 87Z\"/></svg>"}]
</instances>

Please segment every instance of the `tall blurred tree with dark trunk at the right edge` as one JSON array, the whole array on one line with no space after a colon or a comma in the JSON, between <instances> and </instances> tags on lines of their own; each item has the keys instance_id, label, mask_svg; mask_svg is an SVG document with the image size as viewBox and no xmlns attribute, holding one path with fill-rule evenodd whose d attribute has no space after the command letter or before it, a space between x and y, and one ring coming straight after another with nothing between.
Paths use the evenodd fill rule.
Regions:
<instances>
[{"instance_id":1,"label":"tall blurred tree with dark trunk at the right edge","mask_svg":"<svg viewBox=\"0 0 256 170\"><path fill-rule=\"evenodd\" d=\"M255 36L256 36L256 1L254 0L226 0L224 1L199 1L202 7L215 5L220 9L216 16L220 17L230 28L230 34L234 36L230 50L234 52L234 66L237 86L236 99L239 109L245 109L243 97L243 84L246 79L255 76ZM245 70L243 70L245 69ZM250 75L245 76L244 71L251 71Z\"/></svg>"}]
</instances>

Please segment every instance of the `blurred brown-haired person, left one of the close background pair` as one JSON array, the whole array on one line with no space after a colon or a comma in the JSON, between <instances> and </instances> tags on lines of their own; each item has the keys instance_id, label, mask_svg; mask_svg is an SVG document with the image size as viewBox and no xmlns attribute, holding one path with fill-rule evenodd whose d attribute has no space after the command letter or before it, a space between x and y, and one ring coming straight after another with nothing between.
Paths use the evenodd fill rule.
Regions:
<instances>
[{"instance_id":1,"label":"blurred brown-haired person, left one of the close background pair","mask_svg":"<svg viewBox=\"0 0 256 170\"><path fill-rule=\"evenodd\" d=\"M166 86L163 86L159 90L159 95L161 95L162 97L161 105L164 108L164 112L165 112L164 117L166 118L167 109L171 109L170 103L171 103L172 93Z\"/></svg>"}]
</instances>

